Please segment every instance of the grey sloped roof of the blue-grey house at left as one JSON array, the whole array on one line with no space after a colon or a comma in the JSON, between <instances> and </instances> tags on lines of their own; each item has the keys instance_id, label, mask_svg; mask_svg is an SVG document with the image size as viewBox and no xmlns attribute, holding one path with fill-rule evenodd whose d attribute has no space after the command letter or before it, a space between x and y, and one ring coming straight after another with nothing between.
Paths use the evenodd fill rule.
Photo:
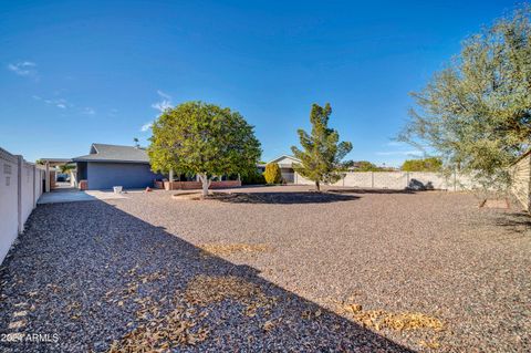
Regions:
<instances>
[{"instance_id":1,"label":"grey sloped roof of the blue-grey house at left","mask_svg":"<svg viewBox=\"0 0 531 353\"><path fill-rule=\"evenodd\" d=\"M147 152L143 147L92 144L88 155L72 158L74 162L103 163L149 163Z\"/></svg>"}]
</instances>

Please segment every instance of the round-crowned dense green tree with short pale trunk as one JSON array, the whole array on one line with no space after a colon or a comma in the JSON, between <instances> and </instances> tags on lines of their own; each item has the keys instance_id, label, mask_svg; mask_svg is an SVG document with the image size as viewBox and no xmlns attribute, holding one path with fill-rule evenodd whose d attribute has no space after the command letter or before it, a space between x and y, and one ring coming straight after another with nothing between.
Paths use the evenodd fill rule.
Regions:
<instances>
[{"instance_id":1,"label":"round-crowned dense green tree with short pale trunk","mask_svg":"<svg viewBox=\"0 0 531 353\"><path fill-rule=\"evenodd\" d=\"M197 175L204 196L214 177L252 173L261 155L260 142L243 116L202 102L166 110L153 124L149 141L152 169Z\"/></svg>"}]
</instances>

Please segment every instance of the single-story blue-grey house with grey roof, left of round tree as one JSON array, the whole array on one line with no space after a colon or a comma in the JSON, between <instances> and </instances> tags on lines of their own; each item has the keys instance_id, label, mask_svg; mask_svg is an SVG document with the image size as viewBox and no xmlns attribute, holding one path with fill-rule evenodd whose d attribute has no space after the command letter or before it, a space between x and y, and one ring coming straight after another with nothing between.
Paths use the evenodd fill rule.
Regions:
<instances>
[{"instance_id":1,"label":"single-story blue-grey house with grey roof, left of round tree","mask_svg":"<svg viewBox=\"0 0 531 353\"><path fill-rule=\"evenodd\" d=\"M92 144L85 156L72 158L77 166L77 183L86 180L87 189L145 188L162 175L153 173L145 148Z\"/></svg>"}]
</instances>

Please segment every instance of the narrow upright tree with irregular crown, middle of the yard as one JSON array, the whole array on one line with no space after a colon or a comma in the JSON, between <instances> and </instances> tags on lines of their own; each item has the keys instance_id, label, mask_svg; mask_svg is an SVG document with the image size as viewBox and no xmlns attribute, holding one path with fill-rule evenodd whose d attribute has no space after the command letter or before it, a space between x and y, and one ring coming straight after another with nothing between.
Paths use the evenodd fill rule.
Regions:
<instances>
[{"instance_id":1,"label":"narrow upright tree with irregular crown, middle of the yard","mask_svg":"<svg viewBox=\"0 0 531 353\"><path fill-rule=\"evenodd\" d=\"M321 189L321 183L335 183L341 178L343 170L341 160L351 152L350 142L339 142L337 131L329 127L332 107L329 103L324 107L312 105L310 122L312 131L308 134L302 128L298 131L302 150L292 146L293 155L301 160L294 164L293 169L304 178L315 181L315 188Z\"/></svg>"}]
</instances>

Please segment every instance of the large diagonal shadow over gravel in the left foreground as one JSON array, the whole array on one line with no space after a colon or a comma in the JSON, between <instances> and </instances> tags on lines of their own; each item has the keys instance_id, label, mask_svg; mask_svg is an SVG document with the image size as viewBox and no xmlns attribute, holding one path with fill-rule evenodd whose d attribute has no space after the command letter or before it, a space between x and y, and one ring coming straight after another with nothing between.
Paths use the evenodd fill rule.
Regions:
<instances>
[{"instance_id":1,"label":"large diagonal shadow over gravel in the left foreground","mask_svg":"<svg viewBox=\"0 0 531 353\"><path fill-rule=\"evenodd\" d=\"M3 352L412 352L103 201L39 206L19 240L0 332L59 341Z\"/></svg>"}]
</instances>

